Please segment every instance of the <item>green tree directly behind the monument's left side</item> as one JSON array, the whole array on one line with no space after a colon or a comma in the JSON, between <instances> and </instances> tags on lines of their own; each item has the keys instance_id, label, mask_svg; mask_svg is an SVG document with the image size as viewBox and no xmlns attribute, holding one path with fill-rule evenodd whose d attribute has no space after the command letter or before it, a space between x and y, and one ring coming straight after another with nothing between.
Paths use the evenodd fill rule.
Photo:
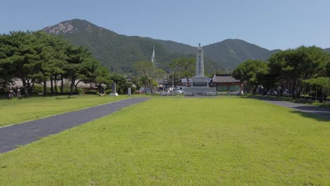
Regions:
<instances>
[{"instance_id":1,"label":"green tree directly behind the monument's left side","mask_svg":"<svg viewBox=\"0 0 330 186\"><path fill-rule=\"evenodd\" d=\"M171 68L180 72L181 77L185 77L190 87L189 79L195 75L195 58L176 58L170 63Z\"/></svg>"}]
</instances>

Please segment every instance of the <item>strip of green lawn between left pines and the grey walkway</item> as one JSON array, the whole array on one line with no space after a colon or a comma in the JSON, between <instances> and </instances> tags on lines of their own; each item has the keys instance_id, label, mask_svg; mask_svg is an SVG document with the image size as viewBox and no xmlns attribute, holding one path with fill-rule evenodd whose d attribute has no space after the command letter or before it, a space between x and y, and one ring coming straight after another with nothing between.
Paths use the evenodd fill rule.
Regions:
<instances>
[{"instance_id":1,"label":"strip of green lawn between left pines and the grey walkway","mask_svg":"<svg viewBox=\"0 0 330 186\"><path fill-rule=\"evenodd\" d=\"M71 99L56 99L56 97L31 97L21 100L12 99L10 101L0 99L0 127L125 98L127 96L98 97L96 95L85 95Z\"/></svg>"}]
</instances>

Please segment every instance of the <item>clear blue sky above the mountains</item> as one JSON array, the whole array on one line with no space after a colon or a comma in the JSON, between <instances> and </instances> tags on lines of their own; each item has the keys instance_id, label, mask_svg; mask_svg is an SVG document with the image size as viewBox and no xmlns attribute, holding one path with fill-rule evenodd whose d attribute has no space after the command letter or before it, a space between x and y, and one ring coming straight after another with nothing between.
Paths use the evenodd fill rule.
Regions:
<instances>
[{"instance_id":1,"label":"clear blue sky above the mountains","mask_svg":"<svg viewBox=\"0 0 330 186\"><path fill-rule=\"evenodd\" d=\"M329 0L2 0L0 33L80 18L123 35L197 46L243 39L267 49L330 47Z\"/></svg>"}]
</instances>

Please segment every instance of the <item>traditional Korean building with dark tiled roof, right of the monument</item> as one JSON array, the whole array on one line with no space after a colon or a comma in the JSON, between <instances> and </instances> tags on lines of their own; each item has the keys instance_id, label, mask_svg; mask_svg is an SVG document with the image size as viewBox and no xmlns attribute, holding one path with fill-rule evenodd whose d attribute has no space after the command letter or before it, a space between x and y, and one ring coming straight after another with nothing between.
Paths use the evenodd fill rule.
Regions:
<instances>
[{"instance_id":1,"label":"traditional Korean building with dark tiled roof, right of the monument","mask_svg":"<svg viewBox=\"0 0 330 186\"><path fill-rule=\"evenodd\" d=\"M243 87L242 82L236 80L231 74L215 74L212 84L218 92L241 92Z\"/></svg>"}]
</instances>

